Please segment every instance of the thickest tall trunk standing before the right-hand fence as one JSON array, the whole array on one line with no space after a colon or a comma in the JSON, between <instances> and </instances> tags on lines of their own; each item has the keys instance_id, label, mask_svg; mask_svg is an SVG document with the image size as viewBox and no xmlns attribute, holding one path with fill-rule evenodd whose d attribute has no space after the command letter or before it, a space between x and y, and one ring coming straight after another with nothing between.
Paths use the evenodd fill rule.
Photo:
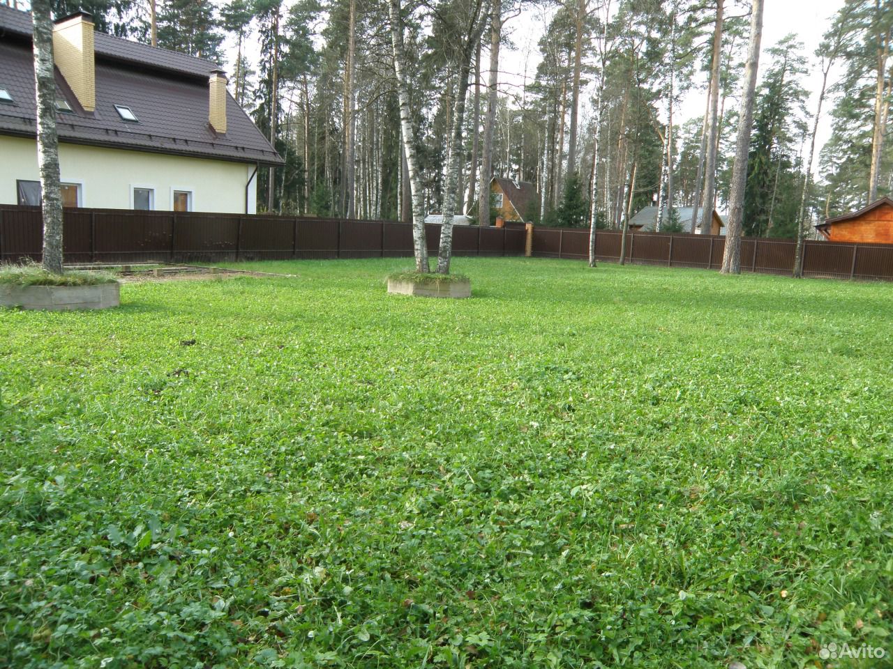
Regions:
<instances>
[{"instance_id":1,"label":"thickest tall trunk standing before the right-hand fence","mask_svg":"<svg viewBox=\"0 0 893 669\"><path fill-rule=\"evenodd\" d=\"M720 269L722 274L741 273L741 230L744 217L744 194L747 186L750 127L754 120L756 73L759 70L760 42L763 39L763 2L764 0L754 0L751 8L750 47L747 49L747 64L741 87L738 140L735 144L735 164L731 171L729 227L726 229L725 250L722 252L722 268Z\"/></svg>"}]
</instances>

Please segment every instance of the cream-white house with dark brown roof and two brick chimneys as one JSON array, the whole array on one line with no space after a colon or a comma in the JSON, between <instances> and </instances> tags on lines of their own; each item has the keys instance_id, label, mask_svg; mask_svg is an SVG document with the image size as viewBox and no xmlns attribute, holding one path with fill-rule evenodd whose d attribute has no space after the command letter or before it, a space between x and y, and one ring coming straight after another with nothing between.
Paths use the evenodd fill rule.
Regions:
<instances>
[{"instance_id":1,"label":"cream-white house with dark brown roof and two brick chimneys","mask_svg":"<svg viewBox=\"0 0 893 669\"><path fill-rule=\"evenodd\" d=\"M31 17L0 4L0 203L39 204ZM257 169L280 165L213 62L56 21L65 206L255 213Z\"/></svg>"}]
</instances>

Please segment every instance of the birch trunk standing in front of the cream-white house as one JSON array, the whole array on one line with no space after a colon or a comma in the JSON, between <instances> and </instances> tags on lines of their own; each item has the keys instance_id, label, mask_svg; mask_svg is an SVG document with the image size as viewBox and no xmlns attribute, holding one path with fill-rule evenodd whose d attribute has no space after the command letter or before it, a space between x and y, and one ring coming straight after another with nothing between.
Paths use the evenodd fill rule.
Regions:
<instances>
[{"instance_id":1,"label":"birch trunk standing in front of the cream-white house","mask_svg":"<svg viewBox=\"0 0 893 669\"><path fill-rule=\"evenodd\" d=\"M50 0L33 0L34 81L38 101L38 163L44 219L43 267L62 274L62 192L59 186L59 137L55 124L53 14Z\"/></svg>"}]
</instances>

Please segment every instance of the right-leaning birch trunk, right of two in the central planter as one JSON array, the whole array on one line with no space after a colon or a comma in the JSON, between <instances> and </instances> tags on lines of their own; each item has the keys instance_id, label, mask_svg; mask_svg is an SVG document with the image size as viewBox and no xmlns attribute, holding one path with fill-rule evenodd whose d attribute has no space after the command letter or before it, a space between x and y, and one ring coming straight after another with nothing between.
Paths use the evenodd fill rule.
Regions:
<instances>
[{"instance_id":1,"label":"right-leaning birch trunk, right of two in the central planter","mask_svg":"<svg viewBox=\"0 0 893 669\"><path fill-rule=\"evenodd\" d=\"M465 98L468 95L468 77L472 69L472 49L475 44L480 44L480 35L488 19L488 0L483 0L479 6L478 16L473 18L476 21L472 23L471 31L465 36L462 62L459 63L459 77L456 80L458 90L455 96L453 131L447 158L447 188L444 194L444 218L440 225L438 274L449 274L449 263L453 255L453 217L459 186L459 169L463 163L462 128L465 121Z\"/></svg>"}]
</instances>

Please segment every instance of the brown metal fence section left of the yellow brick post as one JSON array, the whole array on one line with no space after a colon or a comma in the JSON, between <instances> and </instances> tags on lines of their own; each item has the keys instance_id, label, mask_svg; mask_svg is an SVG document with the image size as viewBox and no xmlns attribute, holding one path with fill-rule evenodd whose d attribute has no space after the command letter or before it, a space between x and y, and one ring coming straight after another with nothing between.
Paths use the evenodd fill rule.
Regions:
<instances>
[{"instance_id":1,"label":"brown metal fence section left of the yellow brick post","mask_svg":"<svg viewBox=\"0 0 893 669\"><path fill-rule=\"evenodd\" d=\"M0 206L0 261L40 260L38 207ZM413 254L413 227L384 220L66 209L65 261L184 262L381 258ZM440 227L427 226L436 252ZM523 255L523 228L455 227L456 255Z\"/></svg>"}]
</instances>

